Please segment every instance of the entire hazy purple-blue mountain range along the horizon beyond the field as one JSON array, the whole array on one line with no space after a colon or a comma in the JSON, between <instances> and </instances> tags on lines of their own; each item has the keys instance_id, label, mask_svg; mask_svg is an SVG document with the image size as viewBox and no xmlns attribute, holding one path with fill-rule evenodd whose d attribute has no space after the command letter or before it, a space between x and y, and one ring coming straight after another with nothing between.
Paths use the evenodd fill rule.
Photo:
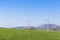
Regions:
<instances>
[{"instance_id":1,"label":"entire hazy purple-blue mountain range along the horizon beyond the field","mask_svg":"<svg viewBox=\"0 0 60 40\"><path fill-rule=\"evenodd\" d=\"M42 24L42 25L39 25L37 27L34 27L34 26L19 26L19 27L15 27L15 28L22 28L22 29L39 29L39 30L47 30L47 28L49 30L53 30L53 29L58 29L60 28L60 26L58 25L55 25L55 24Z\"/></svg>"}]
</instances>

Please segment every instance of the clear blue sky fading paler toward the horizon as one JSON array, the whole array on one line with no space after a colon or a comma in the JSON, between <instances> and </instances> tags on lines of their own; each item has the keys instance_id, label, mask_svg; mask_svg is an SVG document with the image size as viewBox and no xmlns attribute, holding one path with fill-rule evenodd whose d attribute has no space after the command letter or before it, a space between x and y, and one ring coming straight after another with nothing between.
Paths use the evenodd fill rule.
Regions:
<instances>
[{"instance_id":1,"label":"clear blue sky fading paler toward the horizon","mask_svg":"<svg viewBox=\"0 0 60 40\"><path fill-rule=\"evenodd\" d=\"M46 23L60 25L60 0L0 0L0 26L32 26Z\"/></svg>"}]
</instances>

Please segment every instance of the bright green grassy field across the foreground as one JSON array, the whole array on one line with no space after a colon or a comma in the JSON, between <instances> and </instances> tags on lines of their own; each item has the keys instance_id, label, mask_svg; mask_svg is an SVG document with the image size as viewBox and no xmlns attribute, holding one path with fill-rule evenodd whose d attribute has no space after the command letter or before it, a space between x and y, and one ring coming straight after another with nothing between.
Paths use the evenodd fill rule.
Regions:
<instances>
[{"instance_id":1,"label":"bright green grassy field across the foreground","mask_svg":"<svg viewBox=\"0 0 60 40\"><path fill-rule=\"evenodd\" d=\"M60 32L1 28L0 40L60 40Z\"/></svg>"}]
</instances>

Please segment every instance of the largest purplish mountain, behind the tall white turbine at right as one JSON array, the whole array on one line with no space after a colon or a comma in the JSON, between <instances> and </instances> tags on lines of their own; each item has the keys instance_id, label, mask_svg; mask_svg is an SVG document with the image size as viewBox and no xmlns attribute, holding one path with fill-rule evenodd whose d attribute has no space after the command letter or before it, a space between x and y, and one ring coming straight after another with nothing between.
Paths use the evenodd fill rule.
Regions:
<instances>
[{"instance_id":1,"label":"largest purplish mountain, behind the tall white turbine at right","mask_svg":"<svg viewBox=\"0 0 60 40\"><path fill-rule=\"evenodd\" d=\"M56 29L58 27L59 26L58 25L55 25L55 24L42 24L42 25L37 26L36 28L37 29L41 29L41 30L47 30L47 28L49 30L53 30L53 29Z\"/></svg>"}]
</instances>

